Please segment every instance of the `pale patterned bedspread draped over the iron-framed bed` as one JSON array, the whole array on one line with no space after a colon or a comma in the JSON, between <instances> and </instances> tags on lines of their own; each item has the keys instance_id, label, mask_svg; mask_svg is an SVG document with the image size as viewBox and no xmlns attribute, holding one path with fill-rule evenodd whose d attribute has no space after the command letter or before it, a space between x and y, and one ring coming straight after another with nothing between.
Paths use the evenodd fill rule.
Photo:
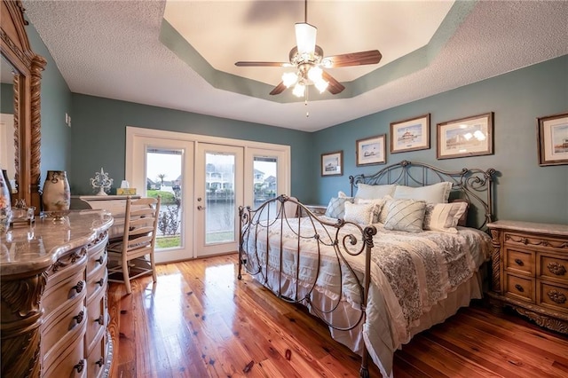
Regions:
<instances>
[{"instance_id":1,"label":"pale patterned bedspread draped over the iron-framed bed","mask_svg":"<svg viewBox=\"0 0 568 378\"><path fill-rule=\"evenodd\" d=\"M304 304L319 315L335 309L323 314L330 323L340 327L353 325L359 319L361 294L353 274L361 279L365 272L364 254L338 255L332 246L336 229L324 227L310 217L264 224L270 226L256 226L254 232L244 235L248 272L276 293L280 290L281 295L296 300L308 297ZM491 239L485 232L464 227L451 234L387 231L382 224L374 225L377 234L373 240L371 287L363 332L360 325L348 332L330 329L336 340L359 354L365 343L382 374L391 376L393 354L401 344L481 295L477 271L490 256ZM361 231L355 224L345 224L339 230L340 246L343 236L348 234L357 241L351 245L351 239L345 240L350 251L363 247ZM343 257L354 273L343 263Z\"/></svg>"}]
</instances>

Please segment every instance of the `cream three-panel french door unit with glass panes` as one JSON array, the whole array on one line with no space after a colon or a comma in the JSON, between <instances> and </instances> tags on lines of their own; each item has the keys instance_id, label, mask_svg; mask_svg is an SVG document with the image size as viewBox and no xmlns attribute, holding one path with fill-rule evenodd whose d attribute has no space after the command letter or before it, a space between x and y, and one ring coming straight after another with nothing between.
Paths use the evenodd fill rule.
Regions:
<instances>
[{"instance_id":1,"label":"cream three-panel french door unit with glass panes","mask_svg":"<svg viewBox=\"0 0 568 378\"><path fill-rule=\"evenodd\" d=\"M237 251L239 206L290 191L290 147L126 128L125 177L162 195L157 263Z\"/></svg>"}]
</instances>

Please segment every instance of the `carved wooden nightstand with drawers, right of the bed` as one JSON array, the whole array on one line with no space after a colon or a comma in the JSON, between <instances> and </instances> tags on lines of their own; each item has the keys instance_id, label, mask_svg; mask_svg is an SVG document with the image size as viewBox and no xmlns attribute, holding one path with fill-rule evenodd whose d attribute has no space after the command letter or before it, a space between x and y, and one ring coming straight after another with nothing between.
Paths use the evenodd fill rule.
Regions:
<instances>
[{"instance_id":1,"label":"carved wooden nightstand with drawers, right of the bed","mask_svg":"<svg viewBox=\"0 0 568 378\"><path fill-rule=\"evenodd\" d=\"M498 221L493 238L493 309L510 306L568 334L568 225Z\"/></svg>"}]
</instances>

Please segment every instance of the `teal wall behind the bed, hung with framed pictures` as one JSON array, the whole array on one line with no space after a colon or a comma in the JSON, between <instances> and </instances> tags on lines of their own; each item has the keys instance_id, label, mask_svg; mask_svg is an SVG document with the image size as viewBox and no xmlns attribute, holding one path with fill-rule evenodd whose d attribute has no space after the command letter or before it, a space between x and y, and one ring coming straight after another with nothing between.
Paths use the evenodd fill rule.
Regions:
<instances>
[{"instance_id":1,"label":"teal wall behind the bed, hung with framed pictures","mask_svg":"<svg viewBox=\"0 0 568 378\"><path fill-rule=\"evenodd\" d=\"M437 123L494 113L494 154L436 159ZM349 193L349 176L374 173L384 165L357 167L357 139L387 134L387 164L426 162L444 169L497 169L498 219L568 224L568 165L540 167L537 117L568 112L568 56L525 67L453 91L371 114L313 134L312 169L320 154L343 150L342 177L315 177L313 202L327 204L337 191ZM430 149L390 154L390 122L430 113Z\"/></svg>"}]
</instances>

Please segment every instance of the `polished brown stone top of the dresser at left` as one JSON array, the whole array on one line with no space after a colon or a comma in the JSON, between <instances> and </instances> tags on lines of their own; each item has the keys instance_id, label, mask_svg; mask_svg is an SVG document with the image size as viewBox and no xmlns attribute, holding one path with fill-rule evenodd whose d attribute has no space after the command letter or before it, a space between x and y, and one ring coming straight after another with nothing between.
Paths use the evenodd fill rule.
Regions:
<instances>
[{"instance_id":1,"label":"polished brown stone top of the dresser at left","mask_svg":"<svg viewBox=\"0 0 568 378\"><path fill-rule=\"evenodd\" d=\"M65 217L36 217L0 235L0 274L41 272L67 251L96 240L114 223L105 210L70 210Z\"/></svg>"}]
</instances>

